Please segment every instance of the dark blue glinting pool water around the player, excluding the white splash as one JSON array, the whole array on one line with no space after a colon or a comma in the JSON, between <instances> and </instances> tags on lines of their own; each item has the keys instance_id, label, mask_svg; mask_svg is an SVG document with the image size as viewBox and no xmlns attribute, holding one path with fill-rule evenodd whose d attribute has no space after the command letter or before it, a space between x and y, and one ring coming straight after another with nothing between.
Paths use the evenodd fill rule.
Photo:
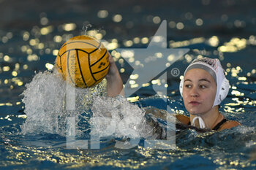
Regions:
<instances>
[{"instance_id":1,"label":"dark blue glinting pool water around the player, excluding the white splash","mask_svg":"<svg viewBox=\"0 0 256 170\"><path fill-rule=\"evenodd\" d=\"M256 2L249 0L0 0L0 123L3 143L1 167L255 169L255 9ZM101 10L108 12L105 18L99 18ZM116 15L121 15L120 22L113 19ZM20 94L26 83L31 82L35 72L47 70L45 63L54 64L54 50L59 50L69 36L80 35L83 26L91 24L89 30L96 29L105 34L102 39L108 42L116 39L118 47L128 47L126 42L134 41L135 37L140 40L146 37L150 40L162 20L167 20L167 45L189 41L187 45L178 44L179 47L190 49L188 58L196 58L198 55L220 58L226 71L229 69L227 78L234 88L223 102L221 111L225 112L225 116L240 121L244 125L242 128L206 135L206 138L195 131L186 131L184 136L178 136L180 150L173 152L147 151L143 147L125 152L115 149L99 152L70 151L55 147L58 144L63 147L61 142L64 143L64 139L58 135L39 134L25 139L22 135L16 135L19 125L25 121L18 117L24 114L24 104L21 102L23 96ZM75 24L75 28L71 31L65 30L67 23ZM50 32L43 35L42 28L48 26ZM56 41L56 36L61 36L61 41ZM219 41L216 46L209 43L213 36L217 36ZM192 39L195 38L200 38L200 42L193 43ZM31 39L37 39L39 42L33 45ZM133 42L129 47L146 48L148 42ZM234 51L224 52L220 49L222 46L227 47L227 42L232 42L230 46ZM42 43L43 47L39 47L39 43ZM37 57L31 60L29 55ZM189 60L183 58L172 67L177 67L182 72L188 63ZM119 69L127 68L118 62L117 65ZM130 72L128 68L121 73L124 82ZM176 107L178 111L184 110L178 93L179 79L172 77L169 72L167 76L168 104L170 107ZM154 94L149 86L135 93L135 96L140 97L138 104L143 107L165 109L161 98L150 97ZM8 120L8 116L11 120ZM38 145L36 141L39 141ZM30 142L32 144L29 144ZM42 144L48 144L50 147L41 147ZM144 164L141 164L143 161Z\"/></svg>"}]
</instances>

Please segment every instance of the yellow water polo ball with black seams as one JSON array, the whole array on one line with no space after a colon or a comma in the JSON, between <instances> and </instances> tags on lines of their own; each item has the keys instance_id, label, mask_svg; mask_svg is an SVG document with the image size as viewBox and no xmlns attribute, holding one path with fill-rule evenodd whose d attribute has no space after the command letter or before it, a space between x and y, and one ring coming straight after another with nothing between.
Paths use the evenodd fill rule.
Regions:
<instances>
[{"instance_id":1,"label":"yellow water polo ball with black seams","mask_svg":"<svg viewBox=\"0 0 256 170\"><path fill-rule=\"evenodd\" d=\"M89 88L108 74L108 50L91 36L75 36L61 46L56 68L72 85Z\"/></svg>"}]
</instances>

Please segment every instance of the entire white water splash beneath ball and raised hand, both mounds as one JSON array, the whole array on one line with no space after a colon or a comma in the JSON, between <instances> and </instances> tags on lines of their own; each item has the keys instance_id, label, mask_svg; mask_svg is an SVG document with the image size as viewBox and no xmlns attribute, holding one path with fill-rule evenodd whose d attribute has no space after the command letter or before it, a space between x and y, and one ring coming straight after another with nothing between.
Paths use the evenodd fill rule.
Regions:
<instances>
[{"instance_id":1,"label":"entire white water splash beneath ball and raised hand, both mounds","mask_svg":"<svg viewBox=\"0 0 256 170\"><path fill-rule=\"evenodd\" d=\"M91 134L101 137L151 136L152 127L146 124L145 111L122 96L106 96L105 85L106 82L102 81L94 88L75 88L64 82L56 71L39 72L23 92L27 119L20 125L22 134L65 136L67 117L75 116L76 136L86 133L89 124L94 127ZM75 107L72 110L67 108L69 91L75 91Z\"/></svg>"}]
</instances>

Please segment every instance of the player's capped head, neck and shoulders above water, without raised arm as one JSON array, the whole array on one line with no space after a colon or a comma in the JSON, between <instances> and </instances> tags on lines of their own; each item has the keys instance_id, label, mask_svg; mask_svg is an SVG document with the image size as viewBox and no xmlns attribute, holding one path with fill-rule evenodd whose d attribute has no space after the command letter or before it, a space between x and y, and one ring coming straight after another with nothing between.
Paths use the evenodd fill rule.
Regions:
<instances>
[{"instance_id":1,"label":"player's capped head, neck and shoulders above water, without raised arm","mask_svg":"<svg viewBox=\"0 0 256 170\"><path fill-rule=\"evenodd\" d=\"M215 131L240 125L219 112L219 104L226 98L229 86L218 59L195 59L185 70L180 83L189 117L176 115L176 118L186 125Z\"/></svg>"}]
</instances>

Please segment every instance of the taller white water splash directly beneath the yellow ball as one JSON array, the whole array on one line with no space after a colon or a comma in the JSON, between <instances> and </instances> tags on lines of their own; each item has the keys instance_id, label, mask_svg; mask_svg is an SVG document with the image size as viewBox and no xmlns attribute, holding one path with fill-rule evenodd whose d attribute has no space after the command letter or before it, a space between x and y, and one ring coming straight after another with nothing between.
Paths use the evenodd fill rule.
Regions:
<instances>
[{"instance_id":1,"label":"taller white water splash directly beneath the yellow ball","mask_svg":"<svg viewBox=\"0 0 256 170\"><path fill-rule=\"evenodd\" d=\"M59 134L65 136L67 132L67 117L75 116L79 119L81 114L89 110L94 96L104 95L105 81L94 88L75 88L68 85L58 72L39 72L33 80L26 85L23 92L26 122L20 125L23 134ZM67 91L75 91L75 109L67 111ZM78 121L75 127L78 130Z\"/></svg>"}]
</instances>

